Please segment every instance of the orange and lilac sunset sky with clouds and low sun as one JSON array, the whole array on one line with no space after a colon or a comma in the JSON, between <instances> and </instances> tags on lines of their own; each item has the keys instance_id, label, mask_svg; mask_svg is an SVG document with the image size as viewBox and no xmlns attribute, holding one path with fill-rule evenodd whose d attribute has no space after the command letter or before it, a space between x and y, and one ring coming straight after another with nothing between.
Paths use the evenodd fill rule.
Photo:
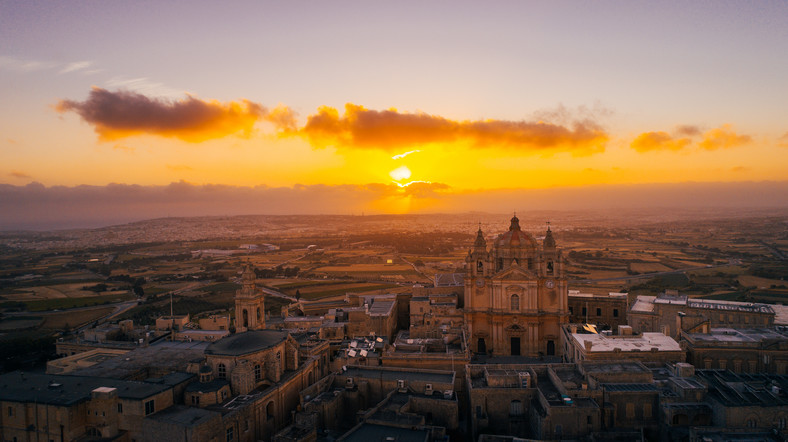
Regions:
<instances>
[{"instance_id":1,"label":"orange and lilac sunset sky with clouds and low sun","mask_svg":"<svg viewBox=\"0 0 788 442\"><path fill-rule=\"evenodd\" d=\"M140 217L214 214L211 192L404 213L784 191L785 23L781 1L0 0L0 228L102 192Z\"/></svg>"}]
</instances>

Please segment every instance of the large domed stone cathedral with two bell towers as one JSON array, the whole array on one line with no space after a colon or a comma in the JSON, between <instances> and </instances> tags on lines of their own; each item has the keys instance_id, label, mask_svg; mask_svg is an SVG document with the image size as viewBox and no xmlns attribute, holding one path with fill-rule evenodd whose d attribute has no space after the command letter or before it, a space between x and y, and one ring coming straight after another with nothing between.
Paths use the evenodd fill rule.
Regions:
<instances>
[{"instance_id":1,"label":"large domed stone cathedral with two bell towers","mask_svg":"<svg viewBox=\"0 0 788 442\"><path fill-rule=\"evenodd\" d=\"M511 219L488 249L481 226L465 258L463 309L469 344L493 356L556 355L569 320L561 252L548 226L541 246Z\"/></svg>"}]
</instances>

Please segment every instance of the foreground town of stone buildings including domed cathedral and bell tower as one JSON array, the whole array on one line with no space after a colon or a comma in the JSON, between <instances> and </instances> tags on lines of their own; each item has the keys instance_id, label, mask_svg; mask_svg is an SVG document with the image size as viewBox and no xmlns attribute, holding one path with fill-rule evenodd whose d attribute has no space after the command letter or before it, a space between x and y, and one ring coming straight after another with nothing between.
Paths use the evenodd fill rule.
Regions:
<instances>
[{"instance_id":1,"label":"foreground town of stone buildings including domed cathedral and bell tower","mask_svg":"<svg viewBox=\"0 0 788 442\"><path fill-rule=\"evenodd\" d=\"M548 227L490 239L408 293L265 314L247 267L234 323L130 321L0 376L0 439L785 440L781 306L570 291ZM234 328L234 332L231 329Z\"/></svg>"}]
</instances>

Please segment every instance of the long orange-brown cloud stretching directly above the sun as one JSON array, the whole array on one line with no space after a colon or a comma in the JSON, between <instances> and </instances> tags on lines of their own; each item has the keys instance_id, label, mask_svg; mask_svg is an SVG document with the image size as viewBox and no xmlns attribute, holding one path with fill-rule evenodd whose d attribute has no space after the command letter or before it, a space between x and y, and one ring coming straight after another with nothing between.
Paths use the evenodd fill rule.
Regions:
<instances>
[{"instance_id":1,"label":"long orange-brown cloud stretching directly above the sun","mask_svg":"<svg viewBox=\"0 0 788 442\"><path fill-rule=\"evenodd\" d=\"M609 138L591 120L575 121L571 125L542 121L455 121L396 109L370 110L352 103L345 105L342 116L333 107L320 107L297 134L317 148L400 150L432 143L464 143L473 148L573 154L602 152Z\"/></svg>"}]
</instances>

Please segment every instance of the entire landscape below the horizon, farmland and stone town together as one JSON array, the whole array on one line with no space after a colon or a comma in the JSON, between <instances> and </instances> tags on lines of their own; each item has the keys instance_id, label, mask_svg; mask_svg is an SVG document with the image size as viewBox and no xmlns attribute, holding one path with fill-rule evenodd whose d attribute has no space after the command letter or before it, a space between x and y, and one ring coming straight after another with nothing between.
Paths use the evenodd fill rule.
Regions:
<instances>
[{"instance_id":1,"label":"entire landscape below the horizon, farmland and stone town together","mask_svg":"<svg viewBox=\"0 0 788 442\"><path fill-rule=\"evenodd\" d=\"M0 232L0 440L785 441L784 210Z\"/></svg>"}]
</instances>

